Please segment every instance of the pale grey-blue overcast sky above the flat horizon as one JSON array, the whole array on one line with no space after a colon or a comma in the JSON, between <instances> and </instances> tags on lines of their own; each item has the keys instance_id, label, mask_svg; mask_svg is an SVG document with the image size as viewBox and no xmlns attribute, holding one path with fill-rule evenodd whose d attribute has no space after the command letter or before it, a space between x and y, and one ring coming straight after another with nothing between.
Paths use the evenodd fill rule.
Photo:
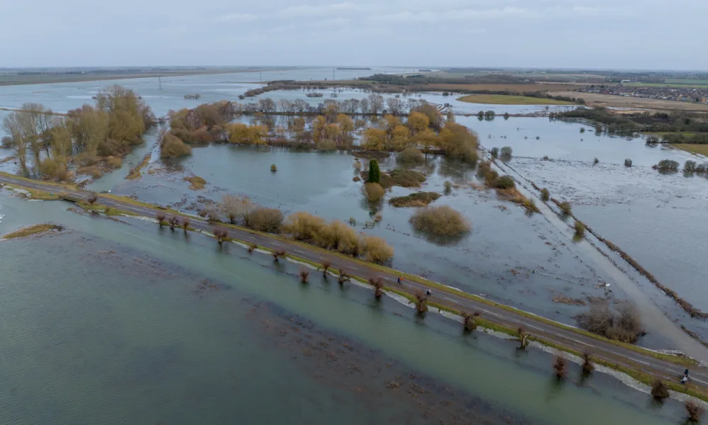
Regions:
<instances>
[{"instance_id":1,"label":"pale grey-blue overcast sky above the flat horizon","mask_svg":"<svg viewBox=\"0 0 708 425\"><path fill-rule=\"evenodd\" d=\"M0 0L0 67L708 69L708 0Z\"/></svg>"}]
</instances>

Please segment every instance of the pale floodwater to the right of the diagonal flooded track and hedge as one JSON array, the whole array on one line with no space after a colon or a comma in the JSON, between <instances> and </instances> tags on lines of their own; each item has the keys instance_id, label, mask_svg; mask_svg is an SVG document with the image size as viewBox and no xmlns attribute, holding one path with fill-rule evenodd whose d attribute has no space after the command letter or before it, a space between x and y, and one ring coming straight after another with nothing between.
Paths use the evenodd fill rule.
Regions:
<instances>
[{"instance_id":1,"label":"pale floodwater to the right of the diagonal flooded track and hedge","mask_svg":"<svg viewBox=\"0 0 708 425\"><path fill-rule=\"evenodd\" d=\"M644 139L596 135L590 125L541 118L510 118L474 126L486 148L510 146L515 171L554 198L569 200L573 213L600 236L612 241L652 273L659 282L700 310L708 311L705 276L708 266L708 179L683 173L660 174L651 166L662 159L680 164L707 158ZM580 129L586 128L581 133ZM539 140L536 140L539 136ZM544 161L547 156L550 160ZM593 164L598 158L599 163ZM624 166L632 160L632 167ZM624 263L625 268L630 268ZM634 279L672 317L708 337L702 321L692 321L668 297L657 296L645 278Z\"/></svg>"}]
</instances>

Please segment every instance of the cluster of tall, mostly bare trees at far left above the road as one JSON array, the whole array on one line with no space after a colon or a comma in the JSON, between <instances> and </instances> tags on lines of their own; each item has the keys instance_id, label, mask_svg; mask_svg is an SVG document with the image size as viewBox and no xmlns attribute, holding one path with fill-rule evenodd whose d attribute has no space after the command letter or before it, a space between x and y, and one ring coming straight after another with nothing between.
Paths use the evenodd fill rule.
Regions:
<instances>
[{"instance_id":1,"label":"cluster of tall, mostly bare trees at far left above the road","mask_svg":"<svg viewBox=\"0 0 708 425\"><path fill-rule=\"evenodd\" d=\"M47 170L66 170L79 157L82 164L96 157L122 156L155 123L155 117L139 96L122 86L112 86L96 96L94 105L84 105L65 115L54 114L37 103L25 103L21 111L3 121L8 133L3 144L16 150L23 174L29 174L28 150L35 167L45 177ZM42 159L44 152L44 159Z\"/></svg>"}]
</instances>

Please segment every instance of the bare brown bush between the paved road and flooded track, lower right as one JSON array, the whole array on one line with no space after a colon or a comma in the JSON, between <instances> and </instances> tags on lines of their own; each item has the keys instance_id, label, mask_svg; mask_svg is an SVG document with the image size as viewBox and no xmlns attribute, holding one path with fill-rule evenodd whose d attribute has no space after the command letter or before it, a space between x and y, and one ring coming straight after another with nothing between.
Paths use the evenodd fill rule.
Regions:
<instances>
[{"instance_id":1,"label":"bare brown bush between the paved road and flooded track, lower right","mask_svg":"<svg viewBox=\"0 0 708 425\"><path fill-rule=\"evenodd\" d=\"M614 309L607 300L594 301L576 320L583 329L617 341L634 342L644 335L639 310L626 301L619 302Z\"/></svg>"}]
</instances>

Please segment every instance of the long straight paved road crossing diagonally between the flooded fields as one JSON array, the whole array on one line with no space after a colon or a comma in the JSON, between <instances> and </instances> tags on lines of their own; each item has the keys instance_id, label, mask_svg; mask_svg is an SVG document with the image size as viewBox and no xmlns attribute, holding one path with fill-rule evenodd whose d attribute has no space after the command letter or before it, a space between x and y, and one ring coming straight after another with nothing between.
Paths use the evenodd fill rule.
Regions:
<instances>
[{"instance_id":1,"label":"long straight paved road crossing diagonally between the flooded fields","mask_svg":"<svg viewBox=\"0 0 708 425\"><path fill-rule=\"evenodd\" d=\"M64 193L68 193L72 198L83 200L86 200L90 196L96 195L99 198L97 201L98 204L131 212L132 214L142 215L144 217L155 217L156 213L161 212L161 210L157 207L149 208L142 205L136 205L135 203L101 196L101 194L93 193L91 191L73 189L64 190L57 188L57 186L42 183L41 181L17 179L8 176L7 174L0 174L0 183L8 183L19 188L31 188L38 191L54 193L62 191ZM211 232L215 226L210 222L200 220L195 217L190 217L189 220L190 227L206 232ZM412 294L416 290L425 291L428 289L428 287L423 285L423 283L413 282L411 280L406 280L403 284L399 284L396 282L398 276L395 273L382 272L377 268L366 266L365 263L360 261L345 259L334 254L327 254L319 249L308 249L306 246L302 246L301 244L282 241L263 234L256 234L249 232L246 229L234 229L231 227L223 228L229 232L229 237L238 239L241 242L245 242L247 244L254 243L274 250L282 249L286 253L299 256L302 259L306 259L307 261L312 261L314 263L322 263L323 261L328 260L330 261L332 268L344 270L348 274L358 276L360 278L379 276L382 280L384 280L385 285L392 288L397 288L406 293ZM430 297L430 301L440 305L445 305L447 307L452 307L455 310L463 312L479 312L481 317L484 317L484 319L511 327L513 329L523 326L532 336L537 336L546 341L558 344L559 346L572 348L576 351L589 351L593 357L601 358L605 361L609 361L610 363L624 366L625 368L639 370L643 373L649 373L650 375L658 376L666 380L678 381L678 378L680 375L683 375L685 370L684 365L658 359L651 356L649 353L634 351L624 346L617 346L607 341L595 339L569 329L554 326L553 324L549 324L541 320L532 319L516 312L510 312L500 307L495 307L485 304L484 302L462 297L455 293L447 293L437 288L433 289L433 295ZM690 375L693 380L692 385L700 387L701 390L708 392L708 368L694 365L691 366L690 369Z\"/></svg>"}]
</instances>

